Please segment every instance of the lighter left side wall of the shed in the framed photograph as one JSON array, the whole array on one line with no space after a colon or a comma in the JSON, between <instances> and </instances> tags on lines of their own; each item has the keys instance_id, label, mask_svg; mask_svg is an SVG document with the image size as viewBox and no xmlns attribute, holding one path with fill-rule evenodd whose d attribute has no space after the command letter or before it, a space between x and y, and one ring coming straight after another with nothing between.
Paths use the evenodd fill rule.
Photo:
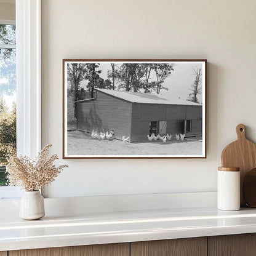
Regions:
<instances>
[{"instance_id":1,"label":"lighter left side wall of the shed in the framed photograph","mask_svg":"<svg viewBox=\"0 0 256 256\"><path fill-rule=\"evenodd\" d=\"M78 130L114 130L114 137L130 136L132 104L97 92L97 100L78 103Z\"/></svg>"}]
</instances>

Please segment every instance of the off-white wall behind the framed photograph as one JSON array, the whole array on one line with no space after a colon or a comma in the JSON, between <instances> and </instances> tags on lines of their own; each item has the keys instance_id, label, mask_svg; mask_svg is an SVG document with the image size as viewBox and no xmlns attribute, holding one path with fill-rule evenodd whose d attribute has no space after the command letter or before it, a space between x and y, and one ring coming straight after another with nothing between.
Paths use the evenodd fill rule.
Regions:
<instances>
[{"instance_id":1,"label":"off-white wall behind the framed photograph","mask_svg":"<svg viewBox=\"0 0 256 256\"><path fill-rule=\"evenodd\" d=\"M62 58L207 58L207 159L60 160L49 197L215 191L223 146L256 141L256 1L42 0L42 145L62 156Z\"/></svg>"}]
</instances>

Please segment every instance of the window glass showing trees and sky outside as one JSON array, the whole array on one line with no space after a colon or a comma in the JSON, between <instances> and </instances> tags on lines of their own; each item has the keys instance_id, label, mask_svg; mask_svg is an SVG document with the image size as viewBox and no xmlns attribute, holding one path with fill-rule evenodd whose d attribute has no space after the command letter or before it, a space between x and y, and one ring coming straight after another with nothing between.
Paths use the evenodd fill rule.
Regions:
<instances>
[{"instance_id":1,"label":"window glass showing trees and sky outside","mask_svg":"<svg viewBox=\"0 0 256 256\"><path fill-rule=\"evenodd\" d=\"M2 27L0 25L0 44L15 44L15 31ZM16 150L15 103L16 49L0 48L0 186L7 185L6 158L10 151Z\"/></svg>"}]
</instances>

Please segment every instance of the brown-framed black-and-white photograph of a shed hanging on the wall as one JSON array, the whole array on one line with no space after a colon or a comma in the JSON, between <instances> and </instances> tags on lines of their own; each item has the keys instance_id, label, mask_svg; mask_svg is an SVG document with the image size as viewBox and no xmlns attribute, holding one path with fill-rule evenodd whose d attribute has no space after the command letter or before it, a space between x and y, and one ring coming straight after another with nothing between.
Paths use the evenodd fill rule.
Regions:
<instances>
[{"instance_id":1,"label":"brown-framed black-and-white photograph of a shed hanging on the wall","mask_svg":"<svg viewBox=\"0 0 256 256\"><path fill-rule=\"evenodd\" d=\"M63 158L206 158L206 60L63 60Z\"/></svg>"}]
</instances>

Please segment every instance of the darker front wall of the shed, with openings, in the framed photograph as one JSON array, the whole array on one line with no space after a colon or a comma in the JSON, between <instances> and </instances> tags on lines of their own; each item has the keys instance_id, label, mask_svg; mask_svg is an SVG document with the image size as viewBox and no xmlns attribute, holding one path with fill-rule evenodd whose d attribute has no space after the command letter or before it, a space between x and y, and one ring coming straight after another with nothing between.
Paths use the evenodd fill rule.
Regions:
<instances>
[{"instance_id":1,"label":"darker front wall of the shed, with openings, in the framed photograph","mask_svg":"<svg viewBox=\"0 0 256 256\"><path fill-rule=\"evenodd\" d=\"M193 120L192 131L202 132L202 106L157 105L133 103L131 142L148 140L150 121L167 121L167 133L175 135L184 132L184 120Z\"/></svg>"}]
</instances>

